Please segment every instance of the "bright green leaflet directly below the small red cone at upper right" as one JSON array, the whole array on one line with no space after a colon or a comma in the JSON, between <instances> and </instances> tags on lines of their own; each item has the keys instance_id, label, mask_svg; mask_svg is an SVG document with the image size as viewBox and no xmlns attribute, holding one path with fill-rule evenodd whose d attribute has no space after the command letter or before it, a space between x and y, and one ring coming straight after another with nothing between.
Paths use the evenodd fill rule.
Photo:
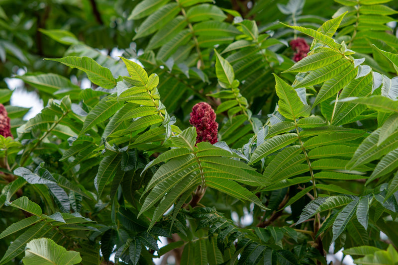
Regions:
<instances>
[{"instance_id":1,"label":"bright green leaflet directly below the small red cone at upper right","mask_svg":"<svg viewBox=\"0 0 398 265\"><path fill-rule=\"evenodd\" d=\"M321 52L313 53L301 59L283 73L313 71L321 67L328 66L331 63L334 63L338 59L342 58L342 55L336 50L327 47L321 49Z\"/></svg>"}]
</instances>

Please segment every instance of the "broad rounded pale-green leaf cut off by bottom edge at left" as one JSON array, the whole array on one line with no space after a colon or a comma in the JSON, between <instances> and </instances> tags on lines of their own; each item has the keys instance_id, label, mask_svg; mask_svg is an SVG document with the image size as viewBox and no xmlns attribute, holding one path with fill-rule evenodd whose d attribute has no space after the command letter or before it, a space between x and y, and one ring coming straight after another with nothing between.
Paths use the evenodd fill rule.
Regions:
<instances>
[{"instance_id":1,"label":"broad rounded pale-green leaf cut off by bottom edge at left","mask_svg":"<svg viewBox=\"0 0 398 265\"><path fill-rule=\"evenodd\" d=\"M80 263L79 252L67 251L48 238L33 239L26 244L24 265L73 265Z\"/></svg>"}]
</instances>

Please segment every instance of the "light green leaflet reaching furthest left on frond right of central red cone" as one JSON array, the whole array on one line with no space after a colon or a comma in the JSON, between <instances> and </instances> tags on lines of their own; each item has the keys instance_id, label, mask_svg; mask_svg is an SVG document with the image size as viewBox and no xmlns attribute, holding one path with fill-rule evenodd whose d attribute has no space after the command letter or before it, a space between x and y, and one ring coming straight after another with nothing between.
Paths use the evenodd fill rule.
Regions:
<instances>
[{"instance_id":1,"label":"light green leaflet reaching furthest left on frond right of central red cone","mask_svg":"<svg viewBox=\"0 0 398 265\"><path fill-rule=\"evenodd\" d=\"M256 163L260 161L262 158L266 157L273 152L280 150L281 148L295 142L297 140L296 133L288 133L283 135L277 135L270 138L268 141L261 144L259 147L256 148L254 151L251 159L250 164Z\"/></svg>"}]
</instances>

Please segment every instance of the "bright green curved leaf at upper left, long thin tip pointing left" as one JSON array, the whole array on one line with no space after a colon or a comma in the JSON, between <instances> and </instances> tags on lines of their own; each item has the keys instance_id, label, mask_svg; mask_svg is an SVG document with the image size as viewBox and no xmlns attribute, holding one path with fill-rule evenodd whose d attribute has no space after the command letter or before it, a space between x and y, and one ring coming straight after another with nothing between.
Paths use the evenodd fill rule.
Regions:
<instances>
[{"instance_id":1,"label":"bright green curved leaf at upper left, long thin tip pointing left","mask_svg":"<svg viewBox=\"0 0 398 265\"><path fill-rule=\"evenodd\" d=\"M108 68L100 66L89 57L68 56L60 59L46 58L45 60L60 62L71 68L82 70L87 74L91 82L102 88L111 89L117 84Z\"/></svg>"}]
</instances>

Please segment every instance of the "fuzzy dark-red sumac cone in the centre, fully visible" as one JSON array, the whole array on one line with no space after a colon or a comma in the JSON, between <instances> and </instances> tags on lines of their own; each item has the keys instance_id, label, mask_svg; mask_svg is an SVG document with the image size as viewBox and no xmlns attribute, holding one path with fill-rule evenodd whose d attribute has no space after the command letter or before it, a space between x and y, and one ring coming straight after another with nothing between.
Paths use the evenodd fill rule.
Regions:
<instances>
[{"instance_id":1,"label":"fuzzy dark-red sumac cone in the centre, fully visible","mask_svg":"<svg viewBox=\"0 0 398 265\"><path fill-rule=\"evenodd\" d=\"M198 134L196 143L209 142L214 144L218 141L218 123L215 122L215 113L209 104L206 102L197 103L192 108L190 116L190 123L195 126Z\"/></svg>"}]
</instances>

